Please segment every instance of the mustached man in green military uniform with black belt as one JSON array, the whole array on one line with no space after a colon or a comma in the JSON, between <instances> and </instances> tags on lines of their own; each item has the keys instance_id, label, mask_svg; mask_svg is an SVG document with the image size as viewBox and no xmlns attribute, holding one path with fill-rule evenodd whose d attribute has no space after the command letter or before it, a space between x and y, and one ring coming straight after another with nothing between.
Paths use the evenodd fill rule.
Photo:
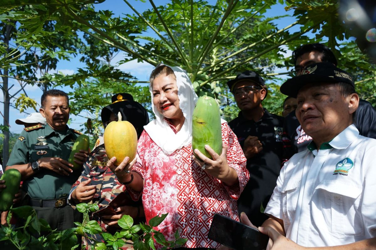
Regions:
<instances>
[{"instance_id":1,"label":"mustached man in green military uniform with black belt","mask_svg":"<svg viewBox=\"0 0 376 250\"><path fill-rule=\"evenodd\" d=\"M23 180L23 190L38 218L49 222L59 231L74 227L81 214L67 205L67 194L81 171L73 171L68 163L71 147L81 133L68 128L69 99L61 90L48 90L41 98L39 112L47 124L24 128L9 157L9 168L18 169ZM88 151L75 154L81 165Z\"/></svg>"}]
</instances>

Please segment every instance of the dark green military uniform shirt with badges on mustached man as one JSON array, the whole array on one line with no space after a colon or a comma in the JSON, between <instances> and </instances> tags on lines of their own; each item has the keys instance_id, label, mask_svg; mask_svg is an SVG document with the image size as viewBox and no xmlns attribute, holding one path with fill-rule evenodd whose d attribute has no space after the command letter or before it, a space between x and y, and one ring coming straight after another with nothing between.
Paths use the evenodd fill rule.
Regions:
<instances>
[{"instance_id":1,"label":"dark green military uniform shirt with badges on mustached man","mask_svg":"<svg viewBox=\"0 0 376 250\"><path fill-rule=\"evenodd\" d=\"M38 137L44 136L47 145L36 145ZM79 136L73 129L55 131L48 124L26 132L22 131L9 157L8 166L26 164L42 157L60 157L68 160L71 147ZM41 151L45 151L44 153ZM23 182L23 190L34 199L57 199L67 195L81 171L69 176L57 174L49 169L41 169Z\"/></svg>"}]
</instances>

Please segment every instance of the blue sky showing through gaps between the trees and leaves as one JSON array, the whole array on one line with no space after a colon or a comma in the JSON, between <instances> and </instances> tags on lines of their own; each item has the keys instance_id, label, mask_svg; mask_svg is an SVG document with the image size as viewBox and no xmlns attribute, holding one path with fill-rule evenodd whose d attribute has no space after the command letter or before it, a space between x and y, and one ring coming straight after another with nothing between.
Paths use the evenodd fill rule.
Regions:
<instances>
[{"instance_id":1,"label":"blue sky showing through gaps between the trees and leaves","mask_svg":"<svg viewBox=\"0 0 376 250\"><path fill-rule=\"evenodd\" d=\"M129 2L132 4L132 6L135 7L138 12L143 12L146 9L150 9L152 6L151 4L147 1L146 3L143 3L141 1L135 1L135 0L129 0ZM169 1L165 0L158 0L155 1L159 5L162 5L164 3L167 3ZM209 3L214 4L215 1L209 0ZM116 16L123 16L123 13L133 13L133 11L130 9L130 7L127 6L127 4L122 1L122 0L107 0L104 3L96 4L96 9L101 9L101 10L111 10L114 15ZM291 24L292 22L295 21L295 18L292 17L293 11L290 10L288 12L285 11L284 6L281 4L276 4L274 5L271 9L267 11L265 14L266 16L276 16L276 15L289 15L285 18L282 18L279 20L277 23L277 27L284 28L287 25ZM299 27L293 27L291 28L291 31L297 31ZM286 56L290 56L291 51L287 52ZM123 58L124 54L119 53L117 57L114 58L113 64L120 61ZM76 58L71 58L70 60L64 60L64 61L59 61L57 70L61 71L65 74L73 74L76 72L77 68L79 67L84 67L85 65L83 63L79 62L79 56ZM131 75L135 76L141 81L147 81L150 75L150 72L153 69L153 66L147 63L137 63L135 61L128 62L126 64L121 64L118 66L121 70L124 72L129 72ZM285 71L284 69L281 69L281 71ZM14 87L12 88L11 93L15 93L19 89L18 87L18 82L15 80L10 79L10 85L14 84ZM32 86L32 85L27 85L25 90L29 94L29 96L33 99L35 99L38 102L38 108L40 104L40 96L42 95L42 90L39 89L37 86ZM62 88L64 91L71 91L69 87L64 87ZM3 101L3 96L0 97L0 101ZM12 100L12 103L14 104L15 100ZM3 103L0 103L0 110L3 112ZM26 112L34 112L31 109L27 109ZM23 129L23 126L15 124L15 120L18 118L24 118L27 114L25 113L20 113L17 109L12 108L10 110L10 131L13 133L20 133ZM82 114L83 116L87 116L88 114ZM1 119L2 121L3 119ZM73 129L80 130L82 129L81 124L83 124L86 121L86 118L78 117L71 115L70 119L70 124L69 126Z\"/></svg>"}]
</instances>

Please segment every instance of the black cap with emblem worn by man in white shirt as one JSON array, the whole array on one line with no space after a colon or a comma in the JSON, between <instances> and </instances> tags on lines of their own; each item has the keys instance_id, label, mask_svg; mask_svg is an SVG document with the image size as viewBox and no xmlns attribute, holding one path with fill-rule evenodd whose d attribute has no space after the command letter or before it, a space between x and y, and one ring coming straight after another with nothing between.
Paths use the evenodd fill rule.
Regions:
<instances>
[{"instance_id":1,"label":"black cap with emblem worn by man in white shirt","mask_svg":"<svg viewBox=\"0 0 376 250\"><path fill-rule=\"evenodd\" d=\"M298 91L309 83L344 82L355 88L354 81L349 73L337 68L332 63L313 63L306 66L302 75L288 79L281 85L282 94L296 98Z\"/></svg>"}]
</instances>

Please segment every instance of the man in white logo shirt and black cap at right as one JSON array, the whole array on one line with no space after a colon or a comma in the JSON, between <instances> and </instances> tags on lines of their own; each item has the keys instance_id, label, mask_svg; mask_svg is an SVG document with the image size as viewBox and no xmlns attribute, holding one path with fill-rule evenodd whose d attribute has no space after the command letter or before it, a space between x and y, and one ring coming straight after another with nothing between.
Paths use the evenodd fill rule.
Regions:
<instances>
[{"instance_id":1,"label":"man in white logo shirt and black cap at right","mask_svg":"<svg viewBox=\"0 0 376 250\"><path fill-rule=\"evenodd\" d=\"M259 228L269 248L376 249L376 140L353 125L359 97L351 76L315 63L280 91L297 97L296 116L313 141L277 179Z\"/></svg>"}]
</instances>

